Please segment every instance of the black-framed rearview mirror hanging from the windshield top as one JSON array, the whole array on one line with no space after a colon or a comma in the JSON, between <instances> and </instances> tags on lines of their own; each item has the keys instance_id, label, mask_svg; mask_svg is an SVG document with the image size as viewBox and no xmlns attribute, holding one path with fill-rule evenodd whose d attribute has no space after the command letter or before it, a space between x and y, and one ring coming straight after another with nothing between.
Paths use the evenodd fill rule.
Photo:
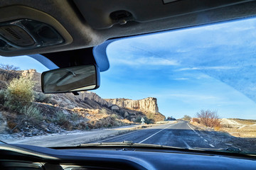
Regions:
<instances>
[{"instance_id":1,"label":"black-framed rearview mirror hanging from the windshield top","mask_svg":"<svg viewBox=\"0 0 256 170\"><path fill-rule=\"evenodd\" d=\"M97 89L100 71L94 64L53 69L42 73L41 83L45 94Z\"/></svg>"}]
</instances>

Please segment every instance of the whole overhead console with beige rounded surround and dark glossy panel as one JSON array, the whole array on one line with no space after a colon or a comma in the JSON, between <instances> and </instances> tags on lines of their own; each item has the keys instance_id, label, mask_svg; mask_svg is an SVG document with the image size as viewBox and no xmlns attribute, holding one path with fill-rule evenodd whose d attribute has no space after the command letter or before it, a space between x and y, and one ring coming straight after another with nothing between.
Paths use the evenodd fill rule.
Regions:
<instances>
[{"instance_id":1,"label":"whole overhead console with beige rounded surround and dark glossy panel","mask_svg":"<svg viewBox=\"0 0 256 170\"><path fill-rule=\"evenodd\" d=\"M0 51L18 52L68 45L73 41L55 18L26 6L0 9Z\"/></svg>"}]
</instances>

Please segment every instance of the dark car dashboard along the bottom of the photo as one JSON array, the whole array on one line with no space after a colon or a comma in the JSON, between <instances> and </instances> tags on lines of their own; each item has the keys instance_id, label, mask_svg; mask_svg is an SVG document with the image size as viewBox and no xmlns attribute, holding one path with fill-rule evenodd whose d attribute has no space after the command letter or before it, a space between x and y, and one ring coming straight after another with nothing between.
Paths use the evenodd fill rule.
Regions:
<instances>
[{"instance_id":1,"label":"dark car dashboard along the bottom of the photo","mask_svg":"<svg viewBox=\"0 0 256 170\"><path fill-rule=\"evenodd\" d=\"M7 170L256 169L253 157L175 149L0 145L0 150L0 168Z\"/></svg>"}]
</instances>

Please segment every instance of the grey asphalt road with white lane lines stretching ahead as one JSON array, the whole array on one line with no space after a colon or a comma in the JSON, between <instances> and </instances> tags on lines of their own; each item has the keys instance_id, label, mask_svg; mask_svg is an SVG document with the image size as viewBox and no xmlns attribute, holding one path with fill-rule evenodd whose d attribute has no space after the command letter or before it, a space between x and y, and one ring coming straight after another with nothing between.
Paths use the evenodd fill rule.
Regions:
<instances>
[{"instance_id":1,"label":"grey asphalt road with white lane lines stretching ahead","mask_svg":"<svg viewBox=\"0 0 256 170\"><path fill-rule=\"evenodd\" d=\"M167 123L95 142L122 142L124 140L134 143L167 145L188 149L195 147L225 149L228 147L221 141L215 141L214 137L194 130L192 125L182 120L179 120L178 123Z\"/></svg>"}]
</instances>

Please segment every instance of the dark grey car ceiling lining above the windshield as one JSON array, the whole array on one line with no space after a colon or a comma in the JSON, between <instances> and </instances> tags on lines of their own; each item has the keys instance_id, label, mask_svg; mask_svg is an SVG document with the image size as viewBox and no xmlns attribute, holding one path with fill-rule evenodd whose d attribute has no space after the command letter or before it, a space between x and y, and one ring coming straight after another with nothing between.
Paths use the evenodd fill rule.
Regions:
<instances>
[{"instance_id":1,"label":"dark grey car ceiling lining above the windshield","mask_svg":"<svg viewBox=\"0 0 256 170\"><path fill-rule=\"evenodd\" d=\"M14 10L4 13L4 9L10 6ZM53 17L55 22L60 23L67 30L68 33L65 35L70 34L69 42L65 45L18 52L0 51L0 55L44 54L58 67L95 63L92 47L100 45L108 39L256 15L256 1L241 0L183 0L169 4L165 4L161 0L44 0L39 2L33 0L1 0L0 22L36 17L32 17L31 13L26 12L26 10L29 11L28 8L25 11L22 10L22 6L42 11ZM110 14L113 11L120 10L131 12L132 21L127 21L124 25L114 24L114 21L110 22ZM46 18L41 17L41 19L46 21ZM100 50L101 55L99 56L102 56L102 60L107 62L107 56L103 51L104 48ZM105 64L101 71L105 71L107 68L108 66Z\"/></svg>"}]
</instances>

